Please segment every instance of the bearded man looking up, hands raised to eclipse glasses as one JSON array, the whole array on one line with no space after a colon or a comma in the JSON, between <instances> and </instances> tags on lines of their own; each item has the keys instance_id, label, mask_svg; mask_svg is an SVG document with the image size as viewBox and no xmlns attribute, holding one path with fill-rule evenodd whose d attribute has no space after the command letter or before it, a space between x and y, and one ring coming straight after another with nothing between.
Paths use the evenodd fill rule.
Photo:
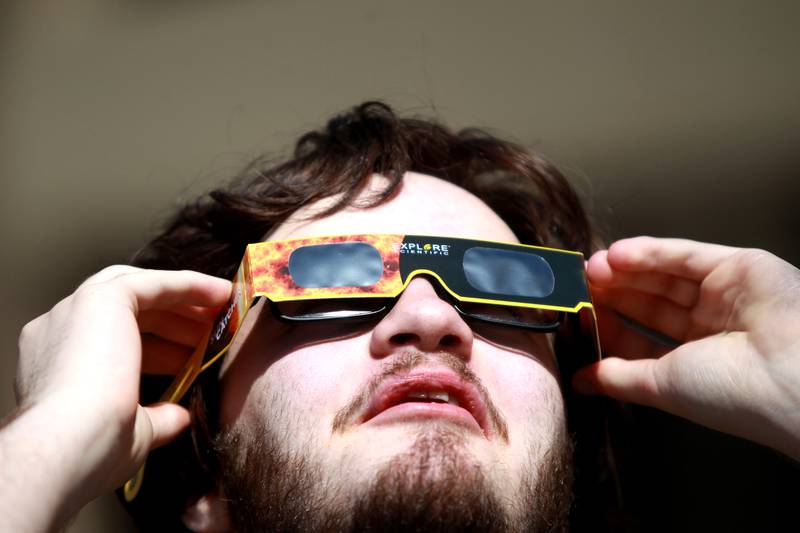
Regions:
<instances>
[{"instance_id":1,"label":"bearded man looking up, hands raised to eclipse glasses","mask_svg":"<svg viewBox=\"0 0 800 533\"><path fill-rule=\"evenodd\" d=\"M250 242L364 233L593 251L574 192L541 159L377 104L212 197L143 250L146 270L106 269L26 326L20 408L0 433L4 530L63 524L189 426L184 408L138 404L139 374L176 372L230 284L149 269L231 278ZM556 353L551 335L468 321L435 276L354 325L287 326L262 302L193 393L198 458L154 461L145 487L158 490L170 463L194 531L564 530L568 424L580 419L567 419L569 381L800 458L794 267L766 252L639 238L594 254L587 273L610 357L574 379L563 375L574 354ZM626 329L620 315L679 346ZM411 403L452 394L459 406L381 410L401 383L414 384ZM150 524L168 523L153 514Z\"/></svg>"}]
</instances>

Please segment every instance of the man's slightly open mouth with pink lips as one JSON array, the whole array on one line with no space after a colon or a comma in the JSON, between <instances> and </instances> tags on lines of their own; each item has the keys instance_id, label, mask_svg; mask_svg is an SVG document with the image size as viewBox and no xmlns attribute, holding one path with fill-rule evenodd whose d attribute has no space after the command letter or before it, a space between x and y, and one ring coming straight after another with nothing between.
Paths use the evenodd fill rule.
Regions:
<instances>
[{"instance_id":1,"label":"man's slightly open mouth with pink lips","mask_svg":"<svg viewBox=\"0 0 800 533\"><path fill-rule=\"evenodd\" d=\"M447 369L415 368L381 383L359 422L394 424L439 420L493 435L481 392Z\"/></svg>"}]
</instances>

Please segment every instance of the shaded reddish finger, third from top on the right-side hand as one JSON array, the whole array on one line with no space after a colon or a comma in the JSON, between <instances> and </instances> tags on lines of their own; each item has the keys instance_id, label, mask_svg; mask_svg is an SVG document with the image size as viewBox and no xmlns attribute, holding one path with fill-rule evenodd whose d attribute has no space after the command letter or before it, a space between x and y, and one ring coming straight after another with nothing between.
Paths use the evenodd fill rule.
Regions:
<instances>
[{"instance_id":1,"label":"shaded reddish finger, third from top on the right-side hand","mask_svg":"<svg viewBox=\"0 0 800 533\"><path fill-rule=\"evenodd\" d=\"M593 299L601 306L678 341L689 338L691 310L661 296L627 289L596 289Z\"/></svg>"}]
</instances>

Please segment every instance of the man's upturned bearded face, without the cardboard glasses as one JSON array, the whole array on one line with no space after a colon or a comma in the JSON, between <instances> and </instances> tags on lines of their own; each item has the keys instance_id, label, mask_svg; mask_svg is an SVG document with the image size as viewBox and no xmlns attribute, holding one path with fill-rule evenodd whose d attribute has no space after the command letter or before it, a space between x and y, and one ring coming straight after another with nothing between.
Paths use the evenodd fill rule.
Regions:
<instances>
[{"instance_id":1,"label":"man's upturned bearded face, without the cardboard glasses","mask_svg":"<svg viewBox=\"0 0 800 533\"><path fill-rule=\"evenodd\" d=\"M382 185L376 177L371 190ZM517 242L479 199L419 174L378 207L302 220L321 207L269 239ZM369 324L288 326L261 304L251 311L222 370L220 492L236 528L486 530L564 518L570 456L550 338L473 329L440 294L417 277Z\"/></svg>"}]
</instances>

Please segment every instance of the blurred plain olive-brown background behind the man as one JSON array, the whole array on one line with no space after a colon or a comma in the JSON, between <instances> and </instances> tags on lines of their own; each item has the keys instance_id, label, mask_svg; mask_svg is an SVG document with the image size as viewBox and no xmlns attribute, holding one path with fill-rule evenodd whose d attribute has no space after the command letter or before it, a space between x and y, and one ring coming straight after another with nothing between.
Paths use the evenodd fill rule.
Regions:
<instances>
[{"instance_id":1,"label":"blurred plain olive-brown background behind the man","mask_svg":"<svg viewBox=\"0 0 800 533\"><path fill-rule=\"evenodd\" d=\"M366 99L543 152L608 240L800 264L799 23L792 1L5 0L0 412L23 324L180 201ZM641 529L796 519L795 465L635 413ZM129 528L107 497L70 531Z\"/></svg>"}]
</instances>

